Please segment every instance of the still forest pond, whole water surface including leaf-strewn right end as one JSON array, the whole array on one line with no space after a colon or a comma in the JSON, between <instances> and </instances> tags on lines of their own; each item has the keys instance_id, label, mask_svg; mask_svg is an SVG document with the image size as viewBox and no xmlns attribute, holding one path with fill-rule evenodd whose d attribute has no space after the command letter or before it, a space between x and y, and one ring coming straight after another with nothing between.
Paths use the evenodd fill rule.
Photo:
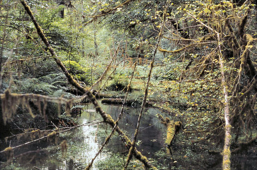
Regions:
<instances>
[{"instance_id":1,"label":"still forest pond, whole water surface including leaf-strewn right end","mask_svg":"<svg viewBox=\"0 0 257 170\"><path fill-rule=\"evenodd\" d=\"M98 101L100 103L100 101ZM102 109L110 114L114 120L117 119L121 106L102 105ZM81 117L78 118L79 124L83 124L95 119L101 121L101 116L94 111L90 104L85 106ZM130 138L133 139L137 126L140 108L125 107L119 127ZM141 119L140 133L137 140L137 149L151 160L157 161L158 168L166 169L169 164L169 157L166 155L164 141L166 127L161 124L156 114L161 113L158 109L146 108ZM161 113L162 114L162 113ZM164 113L163 116L166 116ZM170 117L174 120L174 118ZM178 121L178 120L174 120ZM14 152L14 162L9 169L84 169L88 162L98 152L99 147L104 142L111 128L106 123L99 126L81 126L75 130L59 134L57 143L45 140L40 143L26 145L26 147L16 149ZM62 152L60 143L66 140L67 152ZM208 143L191 141L197 140L192 134L180 132L172 144L172 157L176 162L175 168L178 169L218 169L221 167L222 156L211 154L209 150L217 150ZM49 143L51 143L49 145ZM14 143L14 141L12 141ZM24 142L23 142L24 143ZM14 144L15 146L16 144ZM220 147L221 148L221 147ZM255 147L256 148L256 147ZM248 150L244 154L233 155L233 169L256 169L255 148ZM33 151L34 150L34 151ZM252 152L253 150L253 152ZM26 153L26 154L24 154ZM94 161L93 169L99 169L98 162L108 160L112 154L120 153L126 156L127 149L120 137L116 134L112 136L108 145ZM3 166L1 166L3 168ZM120 167L122 168L122 167Z\"/></svg>"}]
</instances>

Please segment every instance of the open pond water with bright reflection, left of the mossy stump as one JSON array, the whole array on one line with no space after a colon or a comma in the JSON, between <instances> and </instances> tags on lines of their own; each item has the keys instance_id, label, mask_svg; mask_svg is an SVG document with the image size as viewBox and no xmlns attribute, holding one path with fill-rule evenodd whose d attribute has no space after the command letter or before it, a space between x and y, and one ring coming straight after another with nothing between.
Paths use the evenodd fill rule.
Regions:
<instances>
[{"instance_id":1,"label":"open pond water with bright reflection, left of the mossy stump","mask_svg":"<svg viewBox=\"0 0 257 170\"><path fill-rule=\"evenodd\" d=\"M98 101L100 103L100 101ZM114 120L117 119L121 110L121 106L102 105L102 109L110 114ZM101 121L101 116L94 111L93 105L85 106L81 117L78 119L79 124L83 124L95 119ZM125 107L124 114L120 120L119 127L124 133L133 139L134 132L137 126L138 114L140 108ZM164 144L164 136L166 128L160 123L156 117L157 113L161 113L157 109L146 108L144 116L141 119L140 133L138 136L137 148L148 158L152 157L154 153ZM111 128L105 123L91 126L81 126L75 130L61 133L58 136L57 143L49 146L49 141L41 141L15 151L16 153L26 152L32 148L37 150L29 152L14 159L14 167L21 169L82 169L95 156L104 142L106 136L109 134ZM60 142L67 141L67 152L62 152L60 149ZM26 151L25 151L26 150ZM118 135L114 135L105 147L104 151L94 160L93 169L96 169L97 161L104 160L109 157L111 153L125 153L127 149L122 143Z\"/></svg>"}]
</instances>

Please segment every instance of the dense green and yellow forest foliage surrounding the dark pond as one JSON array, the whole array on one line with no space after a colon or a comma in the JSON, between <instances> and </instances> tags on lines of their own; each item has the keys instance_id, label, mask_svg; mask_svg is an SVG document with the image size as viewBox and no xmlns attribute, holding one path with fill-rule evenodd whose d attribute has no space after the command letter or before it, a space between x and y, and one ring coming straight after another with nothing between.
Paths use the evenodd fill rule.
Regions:
<instances>
[{"instance_id":1,"label":"dense green and yellow forest foliage surrounding the dark pond","mask_svg":"<svg viewBox=\"0 0 257 170\"><path fill-rule=\"evenodd\" d=\"M139 100L151 77L148 101L182 122L186 149L202 144L207 150L217 147L216 152L221 152L229 138L233 155L256 141L256 1L27 3L58 59L82 87L124 98L133 75L129 92ZM38 99L39 104L29 97L19 106L10 103L8 107L15 112L10 116L1 109L3 138L12 132L4 131L14 126L10 122L17 115L33 112L31 115L47 115L46 121L51 121L68 114L70 103L48 101L47 97L74 102L81 92L67 81L69 77L56 64L20 1L1 0L0 18L1 100L8 100L6 92L45 96ZM148 75L153 58L153 72ZM1 104L4 111L7 106ZM115 153L110 161L119 156ZM120 161L98 164L122 166ZM136 165L134 161L129 167Z\"/></svg>"}]
</instances>

